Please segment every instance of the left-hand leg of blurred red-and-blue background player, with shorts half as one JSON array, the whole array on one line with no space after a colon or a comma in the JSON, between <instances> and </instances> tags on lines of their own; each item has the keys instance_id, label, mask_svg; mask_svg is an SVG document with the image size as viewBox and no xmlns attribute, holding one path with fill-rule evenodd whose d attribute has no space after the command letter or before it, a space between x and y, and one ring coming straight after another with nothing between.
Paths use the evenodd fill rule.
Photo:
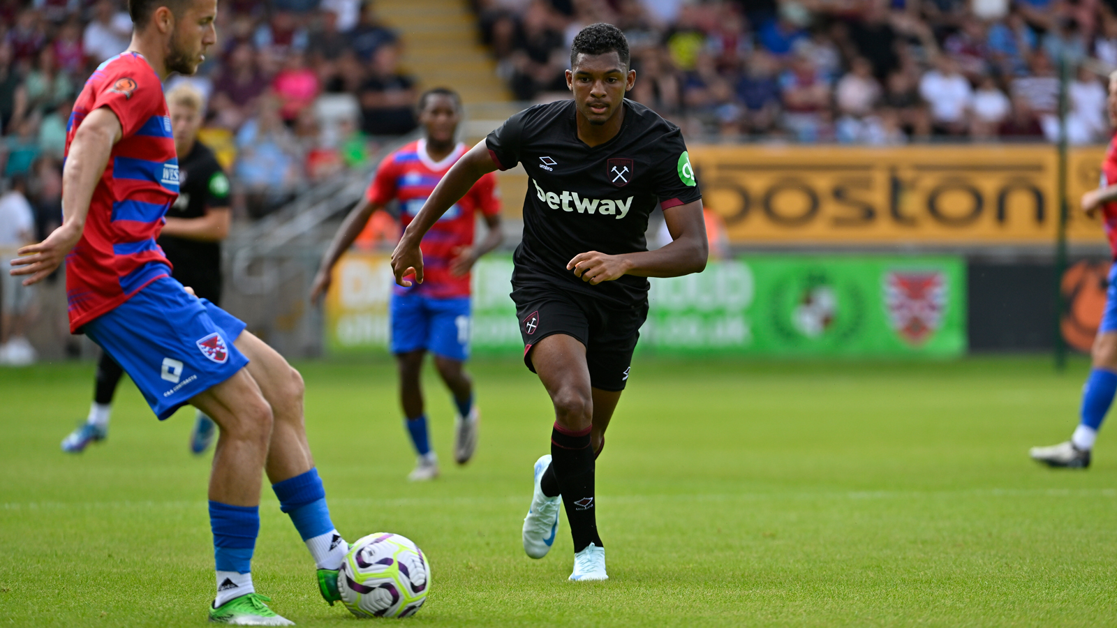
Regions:
<instances>
[{"instance_id":1,"label":"left-hand leg of blurred red-and-blue background player, with shorts half","mask_svg":"<svg viewBox=\"0 0 1117 628\"><path fill-rule=\"evenodd\" d=\"M416 449L416 467L408 475L412 482L438 477L438 456L431 446L422 398L422 362L430 341L430 312L424 298L414 293L392 294L389 307L392 320L391 351L400 375L400 406L403 427Z\"/></svg>"}]
</instances>

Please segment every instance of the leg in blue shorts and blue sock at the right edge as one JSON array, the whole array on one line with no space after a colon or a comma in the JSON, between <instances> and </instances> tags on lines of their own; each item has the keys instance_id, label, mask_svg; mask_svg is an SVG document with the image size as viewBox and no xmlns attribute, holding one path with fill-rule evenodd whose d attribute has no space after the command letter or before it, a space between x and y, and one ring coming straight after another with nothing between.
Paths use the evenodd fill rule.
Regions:
<instances>
[{"instance_id":1,"label":"leg in blue shorts and blue sock at the right edge","mask_svg":"<svg viewBox=\"0 0 1117 628\"><path fill-rule=\"evenodd\" d=\"M1090 351L1091 369L1082 387L1079 424L1070 440L1033 447L1032 459L1052 467L1087 468L1098 429L1117 393L1117 264L1109 270L1106 308Z\"/></svg>"}]
</instances>

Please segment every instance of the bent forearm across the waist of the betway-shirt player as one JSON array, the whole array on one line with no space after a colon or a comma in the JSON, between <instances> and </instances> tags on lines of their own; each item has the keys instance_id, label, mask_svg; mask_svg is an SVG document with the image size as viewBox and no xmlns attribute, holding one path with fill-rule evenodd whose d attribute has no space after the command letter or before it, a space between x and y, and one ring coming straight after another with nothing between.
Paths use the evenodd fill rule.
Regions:
<instances>
[{"instance_id":1,"label":"bent forearm across the waist of the betway-shirt player","mask_svg":"<svg viewBox=\"0 0 1117 628\"><path fill-rule=\"evenodd\" d=\"M663 210L667 230L674 240L656 250L605 255L591 250L575 255L566 264L567 270L583 282L598 285L623 275L638 277L678 277L701 273L706 268L709 245L706 242L706 221L701 213L701 199Z\"/></svg>"}]
</instances>

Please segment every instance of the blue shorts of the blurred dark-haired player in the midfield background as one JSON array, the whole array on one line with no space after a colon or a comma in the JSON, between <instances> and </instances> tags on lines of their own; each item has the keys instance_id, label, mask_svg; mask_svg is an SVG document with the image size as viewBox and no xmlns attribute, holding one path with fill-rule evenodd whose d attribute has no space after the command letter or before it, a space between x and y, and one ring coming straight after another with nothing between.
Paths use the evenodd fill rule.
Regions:
<instances>
[{"instance_id":1,"label":"blue shorts of the blurred dark-haired player in the midfield background","mask_svg":"<svg viewBox=\"0 0 1117 628\"><path fill-rule=\"evenodd\" d=\"M469 297L430 298L395 294L392 316L392 353L426 349L436 355L465 362L469 358Z\"/></svg>"}]
</instances>

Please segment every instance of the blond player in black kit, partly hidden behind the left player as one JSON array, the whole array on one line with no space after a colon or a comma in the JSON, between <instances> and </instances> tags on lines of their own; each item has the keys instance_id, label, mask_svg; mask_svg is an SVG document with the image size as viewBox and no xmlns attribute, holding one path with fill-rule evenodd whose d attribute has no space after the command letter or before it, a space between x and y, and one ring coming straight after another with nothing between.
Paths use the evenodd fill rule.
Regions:
<instances>
[{"instance_id":1,"label":"blond player in black kit, partly hidden behind the left player","mask_svg":"<svg viewBox=\"0 0 1117 628\"><path fill-rule=\"evenodd\" d=\"M204 117L201 94L187 83L166 94L174 150L179 155L179 198L166 211L159 246L173 267L171 276L193 288L199 298L221 303L221 240L229 235L229 179L213 152L198 142ZM108 353L101 354L93 405L85 422L63 439L63 451L79 454L90 443L108 436L116 386L124 377ZM217 428L198 410L190 434L190 450L201 454L213 441Z\"/></svg>"}]
</instances>

